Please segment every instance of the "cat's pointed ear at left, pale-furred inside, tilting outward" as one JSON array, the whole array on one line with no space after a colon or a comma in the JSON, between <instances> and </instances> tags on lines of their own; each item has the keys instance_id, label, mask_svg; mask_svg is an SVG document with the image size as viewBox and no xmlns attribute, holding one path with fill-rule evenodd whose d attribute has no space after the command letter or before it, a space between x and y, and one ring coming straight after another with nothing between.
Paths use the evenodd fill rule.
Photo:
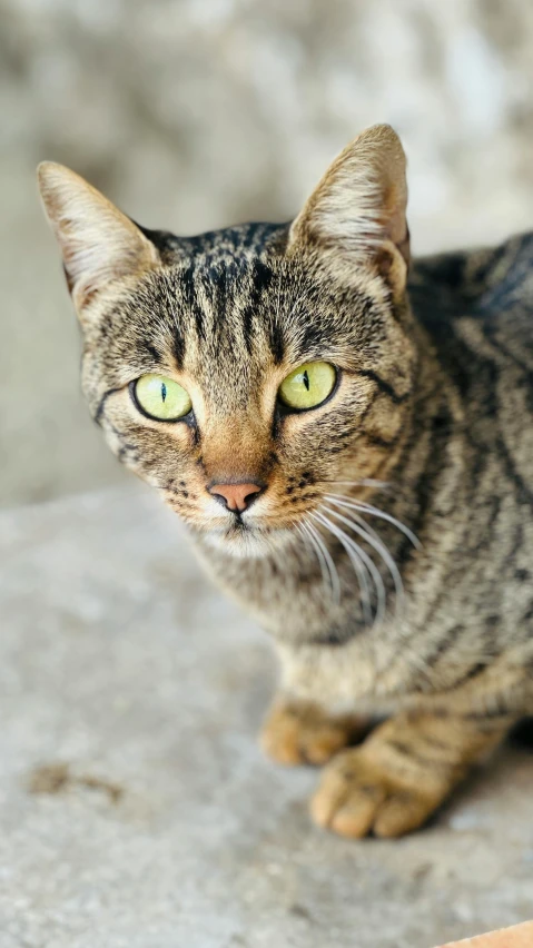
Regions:
<instances>
[{"instance_id":1,"label":"cat's pointed ear at left, pale-furred inside, tilting outward","mask_svg":"<svg viewBox=\"0 0 533 948\"><path fill-rule=\"evenodd\" d=\"M111 283L140 276L158 265L154 244L79 175L42 161L38 180L79 315Z\"/></svg>"}]
</instances>

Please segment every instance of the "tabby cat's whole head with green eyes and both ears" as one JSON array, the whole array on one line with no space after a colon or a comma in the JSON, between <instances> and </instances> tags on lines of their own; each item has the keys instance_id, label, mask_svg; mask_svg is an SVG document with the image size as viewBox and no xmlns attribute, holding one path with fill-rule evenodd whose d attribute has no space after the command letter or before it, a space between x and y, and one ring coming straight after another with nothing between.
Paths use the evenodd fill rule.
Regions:
<instances>
[{"instance_id":1,"label":"tabby cat's whole head with green eyes and both ears","mask_svg":"<svg viewBox=\"0 0 533 948\"><path fill-rule=\"evenodd\" d=\"M292 225L179 238L59 165L39 181L92 417L194 531L260 555L345 482L386 478L416 372L388 126L338 156Z\"/></svg>"}]
</instances>

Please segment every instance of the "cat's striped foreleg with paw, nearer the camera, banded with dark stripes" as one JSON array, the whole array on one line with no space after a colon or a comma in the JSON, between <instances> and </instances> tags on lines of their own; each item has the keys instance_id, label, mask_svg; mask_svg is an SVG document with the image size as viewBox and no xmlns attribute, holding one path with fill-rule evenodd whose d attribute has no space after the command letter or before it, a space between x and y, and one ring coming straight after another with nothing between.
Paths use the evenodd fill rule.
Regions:
<instances>
[{"instance_id":1,"label":"cat's striped foreleg with paw, nearer the camera, banded with dark stripes","mask_svg":"<svg viewBox=\"0 0 533 948\"><path fill-rule=\"evenodd\" d=\"M517 717L446 709L398 714L326 767L312 816L342 836L403 836L427 820Z\"/></svg>"}]
</instances>

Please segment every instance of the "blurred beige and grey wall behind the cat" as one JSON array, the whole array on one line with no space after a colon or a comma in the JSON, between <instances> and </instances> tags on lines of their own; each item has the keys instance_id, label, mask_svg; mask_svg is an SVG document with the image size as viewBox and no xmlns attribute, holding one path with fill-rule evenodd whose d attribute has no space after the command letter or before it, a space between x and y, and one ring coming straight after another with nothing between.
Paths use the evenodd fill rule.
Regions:
<instances>
[{"instance_id":1,"label":"blurred beige and grey wall behind the cat","mask_svg":"<svg viewBox=\"0 0 533 948\"><path fill-rule=\"evenodd\" d=\"M385 120L415 251L533 221L531 0L0 0L0 503L125 477L78 393L38 160L193 233L289 217Z\"/></svg>"}]
</instances>

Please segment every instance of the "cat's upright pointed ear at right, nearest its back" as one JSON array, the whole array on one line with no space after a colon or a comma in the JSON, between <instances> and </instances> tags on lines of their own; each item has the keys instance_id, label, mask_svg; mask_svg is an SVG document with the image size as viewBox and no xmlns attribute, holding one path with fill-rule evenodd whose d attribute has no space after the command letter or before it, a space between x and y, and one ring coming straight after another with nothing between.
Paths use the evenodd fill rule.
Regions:
<instances>
[{"instance_id":1,"label":"cat's upright pointed ear at right, nearest its back","mask_svg":"<svg viewBox=\"0 0 533 948\"><path fill-rule=\"evenodd\" d=\"M323 251L345 275L347 267L369 267L398 298L409 260L405 166L391 126L368 128L329 166L293 223L289 251Z\"/></svg>"}]
</instances>

